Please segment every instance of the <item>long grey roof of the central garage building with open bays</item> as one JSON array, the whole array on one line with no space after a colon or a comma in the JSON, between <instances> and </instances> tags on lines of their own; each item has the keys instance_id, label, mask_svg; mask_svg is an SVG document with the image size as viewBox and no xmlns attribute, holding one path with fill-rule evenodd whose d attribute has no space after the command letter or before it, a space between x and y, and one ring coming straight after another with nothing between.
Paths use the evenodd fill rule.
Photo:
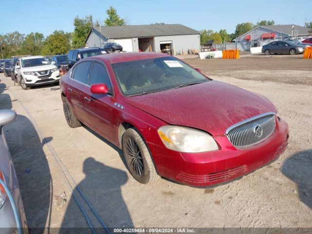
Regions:
<instances>
[{"instance_id":1,"label":"long grey roof of the central garage building with open bays","mask_svg":"<svg viewBox=\"0 0 312 234\"><path fill-rule=\"evenodd\" d=\"M182 24L93 27L91 31L92 30L98 31L98 33L101 33L103 37L109 38L109 39L147 38L147 37L156 37L156 36L200 34L200 32L196 31L195 29L186 27ZM85 41L87 41L87 39L89 38L89 35Z\"/></svg>"}]
</instances>

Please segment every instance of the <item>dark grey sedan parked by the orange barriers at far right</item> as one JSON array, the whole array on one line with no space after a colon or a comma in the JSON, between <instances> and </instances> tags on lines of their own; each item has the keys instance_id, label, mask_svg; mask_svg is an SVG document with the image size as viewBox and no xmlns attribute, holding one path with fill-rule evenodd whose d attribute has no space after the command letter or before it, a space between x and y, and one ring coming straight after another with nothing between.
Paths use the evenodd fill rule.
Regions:
<instances>
[{"instance_id":1,"label":"dark grey sedan parked by the orange barriers at far right","mask_svg":"<svg viewBox=\"0 0 312 234\"><path fill-rule=\"evenodd\" d=\"M262 46L262 53L266 55L271 54L300 54L303 53L305 49L304 45L299 45L297 43L294 43L292 41L273 41L271 43L268 43L264 46Z\"/></svg>"}]
</instances>

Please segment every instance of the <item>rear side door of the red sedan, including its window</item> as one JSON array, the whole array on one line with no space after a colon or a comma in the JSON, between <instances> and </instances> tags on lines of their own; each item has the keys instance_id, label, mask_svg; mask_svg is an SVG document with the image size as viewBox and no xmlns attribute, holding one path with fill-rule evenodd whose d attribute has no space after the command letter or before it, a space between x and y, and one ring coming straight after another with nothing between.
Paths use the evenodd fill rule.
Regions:
<instances>
[{"instance_id":1,"label":"rear side door of the red sedan, including its window","mask_svg":"<svg viewBox=\"0 0 312 234\"><path fill-rule=\"evenodd\" d=\"M72 104L75 116L82 122L87 121L83 107L83 92L88 82L91 64L91 61L77 64L73 68L71 77L68 79L68 98Z\"/></svg>"}]
</instances>

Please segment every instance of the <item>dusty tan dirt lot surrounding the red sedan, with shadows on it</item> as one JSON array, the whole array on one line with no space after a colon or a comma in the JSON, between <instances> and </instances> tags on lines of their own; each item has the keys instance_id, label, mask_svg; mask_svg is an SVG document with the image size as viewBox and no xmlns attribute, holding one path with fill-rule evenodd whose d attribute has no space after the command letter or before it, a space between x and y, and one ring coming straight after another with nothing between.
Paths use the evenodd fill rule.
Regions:
<instances>
[{"instance_id":1,"label":"dusty tan dirt lot surrounding the red sedan, with shadows on it","mask_svg":"<svg viewBox=\"0 0 312 234\"><path fill-rule=\"evenodd\" d=\"M86 127L67 126L59 90L51 90L57 86L24 91L0 74L0 109L18 113L4 129L29 226L87 227L57 154L108 227L312 227L312 60L301 56L185 59L211 78L271 99L290 127L278 160L213 188L166 179L139 184L120 150Z\"/></svg>"}]
</instances>

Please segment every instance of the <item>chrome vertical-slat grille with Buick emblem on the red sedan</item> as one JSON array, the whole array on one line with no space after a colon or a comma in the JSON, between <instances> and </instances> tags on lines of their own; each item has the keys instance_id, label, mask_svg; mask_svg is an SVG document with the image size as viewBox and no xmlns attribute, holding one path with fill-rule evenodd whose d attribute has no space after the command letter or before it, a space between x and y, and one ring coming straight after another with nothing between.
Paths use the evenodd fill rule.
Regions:
<instances>
[{"instance_id":1,"label":"chrome vertical-slat grille with Buick emblem on the red sedan","mask_svg":"<svg viewBox=\"0 0 312 234\"><path fill-rule=\"evenodd\" d=\"M275 126L275 114L266 113L233 125L226 131L226 136L236 148L243 148L270 137Z\"/></svg>"}]
</instances>

